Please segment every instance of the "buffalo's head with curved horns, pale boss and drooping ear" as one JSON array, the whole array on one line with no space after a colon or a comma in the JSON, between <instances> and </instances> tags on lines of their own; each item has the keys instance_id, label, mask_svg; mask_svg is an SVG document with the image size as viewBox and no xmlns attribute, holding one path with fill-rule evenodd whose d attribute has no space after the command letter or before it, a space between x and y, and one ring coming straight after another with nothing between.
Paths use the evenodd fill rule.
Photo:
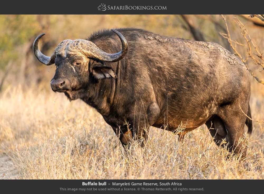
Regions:
<instances>
[{"instance_id":1,"label":"buffalo's head with curved horns, pale boss and drooping ear","mask_svg":"<svg viewBox=\"0 0 264 194\"><path fill-rule=\"evenodd\" d=\"M38 48L39 39L45 33L39 35L33 44L36 58L45 65L56 65L55 75L50 82L51 89L64 92L69 100L75 100L80 97L78 91L89 85L90 74L95 79L115 77L113 69L103 62L121 60L128 51L128 44L120 32L112 31L122 42L122 50L113 54L102 51L91 41L77 39L62 41L50 57L45 56Z\"/></svg>"}]
</instances>

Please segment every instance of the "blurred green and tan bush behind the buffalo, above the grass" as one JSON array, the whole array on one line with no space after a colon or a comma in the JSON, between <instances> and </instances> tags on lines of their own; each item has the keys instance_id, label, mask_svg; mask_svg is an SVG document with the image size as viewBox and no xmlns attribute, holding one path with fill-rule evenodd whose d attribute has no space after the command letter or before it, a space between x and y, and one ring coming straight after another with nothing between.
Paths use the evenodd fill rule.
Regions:
<instances>
[{"instance_id":1,"label":"blurred green and tan bush behind the buffalo, above the grass","mask_svg":"<svg viewBox=\"0 0 264 194\"><path fill-rule=\"evenodd\" d=\"M264 48L263 24L258 18L245 15L227 15L232 39L243 37L233 22L234 17L244 23L251 38ZM257 19L257 20L256 20ZM22 87L48 82L53 77L54 65L40 64L34 57L32 44L37 35L46 32L40 41L40 50L50 56L64 39L85 39L101 29L142 28L153 33L184 39L217 42L232 52L227 39L225 23L220 15L0 15L0 90L12 85ZM239 48L246 53L246 48ZM249 67L261 78L261 70ZM253 81L253 79L252 79ZM253 81L254 82L254 81ZM45 84L49 88L49 84Z\"/></svg>"}]
</instances>

